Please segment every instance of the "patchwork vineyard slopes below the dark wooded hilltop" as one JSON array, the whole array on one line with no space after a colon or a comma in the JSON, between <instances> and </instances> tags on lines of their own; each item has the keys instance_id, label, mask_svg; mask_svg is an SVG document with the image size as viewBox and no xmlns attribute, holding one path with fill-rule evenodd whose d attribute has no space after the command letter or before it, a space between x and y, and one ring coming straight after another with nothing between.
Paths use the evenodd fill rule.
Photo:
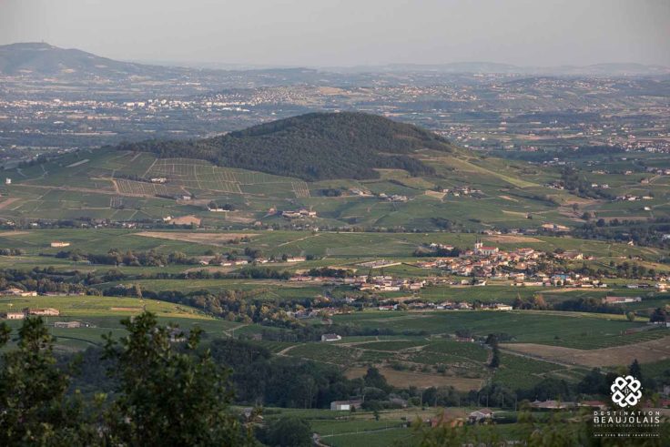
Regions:
<instances>
[{"instance_id":1,"label":"patchwork vineyard slopes below the dark wooded hilltop","mask_svg":"<svg viewBox=\"0 0 670 447\"><path fill-rule=\"evenodd\" d=\"M0 206L0 218L137 221L196 216L218 228L244 228L259 222L283 227L316 224L423 230L440 229L441 222L449 220L452 228L481 230L537 229L547 222L574 227L581 225L584 211L606 219L650 217L650 212L636 203L584 202L566 191L547 188L547 183L559 177L551 169L542 174L535 171L529 177L527 169L511 162L473 157L462 151L449 156L427 151L420 158L435 169L435 175L417 178L401 169L381 169L378 179L304 181L218 167L198 159L86 151L7 173L14 181L3 188L6 198ZM614 177L607 180L616 185L614 192L634 192L639 186L639 178ZM593 181L603 179L596 175ZM662 180L655 179L655 186L665 188L662 185ZM463 186L481 192L459 196L440 192ZM324 196L324 190L339 192ZM407 200L385 199L391 195ZM234 210L209 212L212 200ZM583 202L579 213L569 208ZM665 202L659 195L645 205L659 218L670 212ZM297 208L312 209L318 217L301 221L279 217L279 210ZM446 220L441 221L442 217Z\"/></svg>"}]
</instances>

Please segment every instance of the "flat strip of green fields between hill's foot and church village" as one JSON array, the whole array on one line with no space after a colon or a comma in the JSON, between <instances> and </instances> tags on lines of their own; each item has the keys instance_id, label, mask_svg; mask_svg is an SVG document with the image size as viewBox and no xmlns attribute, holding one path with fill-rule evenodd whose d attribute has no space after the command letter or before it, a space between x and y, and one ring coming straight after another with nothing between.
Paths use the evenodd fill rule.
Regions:
<instances>
[{"instance_id":1,"label":"flat strip of green fields between hill's foot and church village","mask_svg":"<svg viewBox=\"0 0 670 447\"><path fill-rule=\"evenodd\" d=\"M173 231L174 232L174 231ZM198 233L210 231L199 230ZM259 231L244 230L249 242L226 243L225 240L193 242L188 239L188 232L180 240L148 238L139 236L141 231L127 229L35 229L0 232L0 242L4 248L25 249L28 255L55 255L63 249L51 248L49 243L54 240L70 242L66 249L80 249L84 252L105 253L108 249L147 250L158 249L167 251L183 251L188 255L202 255L208 249L216 251L244 250L245 247L261 249L266 256L280 254L310 254L328 257L340 261L358 262L363 259L379 259L385 257L401 258L406 262L420 260L411 258L412 252L421 244L432 242L451 244L455 247L469 248L476 239L482 239L500 247L500 249L533 248L543 251L554 249L579 250L584 255L593 255L602 263L609 259L628 256L642 256L656 260L663 256L663 251L645 247L631 247L625 244L610 244L597 240L582 240L556 237L517 237L509 239L493 239L487 236L467 233L374 233L374 232L336 232L336 231ZM216 231L221 237L226 234ZM235 234L240 234L235 231ZM56 262L49 258L41 258L45 263ZM401 266L403 269L408 267ZM391 268L393 269L393 268ZM392 271L392 270L390 270ZM415 270L416 271L416 270Z\"/></svg>"}]
</instances>

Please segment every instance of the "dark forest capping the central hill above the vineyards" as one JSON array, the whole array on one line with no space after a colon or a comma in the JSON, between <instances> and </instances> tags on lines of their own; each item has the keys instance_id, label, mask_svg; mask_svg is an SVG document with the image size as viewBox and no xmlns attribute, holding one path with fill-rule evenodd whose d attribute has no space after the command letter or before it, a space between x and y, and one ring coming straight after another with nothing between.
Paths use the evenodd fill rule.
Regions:
<instances>
[{"instance_id":1,"label":"dark forest capping the central hill above the vineyards","mask_svg":"<svg viewBox=\"0 0 670 447\"><path fill-rule=\"evenodd\" d=\"M423 148L453 150L446 139L419 127L352 112L311 113L220 137L147 140L118 148L149 151L158 157L206 159L219 166L305 180L378 178L374 168L430 174L432 168L411 154Z\"/></svg>"}]
</instances>

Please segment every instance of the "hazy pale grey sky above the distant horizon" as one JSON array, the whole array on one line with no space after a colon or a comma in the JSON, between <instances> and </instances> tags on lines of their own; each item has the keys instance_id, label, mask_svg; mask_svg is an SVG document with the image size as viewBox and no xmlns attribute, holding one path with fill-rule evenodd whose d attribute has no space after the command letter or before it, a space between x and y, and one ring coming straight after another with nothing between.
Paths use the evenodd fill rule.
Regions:
<instances>
[{"instance_id":1,"label":"hazy pale grey sky above the distant horizon","mask_svg":"<svg viewBox=\"0 0 670 447\"><path fill-rule=\"evenodd\" d=\"M670 66L670 0L0 0L0 44L264 66Z\"/></svg>"}]
</instances>

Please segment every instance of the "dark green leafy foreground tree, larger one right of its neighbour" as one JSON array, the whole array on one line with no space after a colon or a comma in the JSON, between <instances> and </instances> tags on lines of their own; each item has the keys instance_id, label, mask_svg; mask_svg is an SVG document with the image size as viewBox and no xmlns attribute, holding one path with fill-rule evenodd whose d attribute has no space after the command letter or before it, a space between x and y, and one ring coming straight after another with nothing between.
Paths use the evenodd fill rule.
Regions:
<instances>
[{"instance_id":1,"label":"dark green leafy foreground tree, larger one right of its neighbour","mask_svg":"<svg viewBox=\"0 0 670 447\"><path fill-rule=\"evenodd\" d=\"M175 333L144 312L122 321L128 335L107 336L117 399L107 411L115 445L245 445L249 433L229 411L228 371L198 350L200 330ZM185 340L185 341L178 341Z\"/></svg>"}]
</instances>

